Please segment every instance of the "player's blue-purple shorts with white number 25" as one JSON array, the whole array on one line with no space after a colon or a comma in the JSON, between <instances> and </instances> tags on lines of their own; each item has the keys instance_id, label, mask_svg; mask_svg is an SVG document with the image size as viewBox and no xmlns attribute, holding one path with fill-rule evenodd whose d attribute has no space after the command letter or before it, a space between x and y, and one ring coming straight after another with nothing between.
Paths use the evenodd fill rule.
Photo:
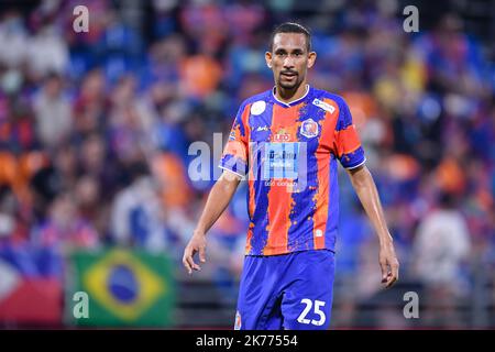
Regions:
<instances>
[{"instance_id":1,"label":"player's blue-purple shorts with white number 25","mask_svg":"<svg viewBox=\"0 0 495 352\"><path fill-rule=\"evenodd\" d=\"M330 324L334 254L309 250L248 255L235 330L326 330Z\"/></svg>"}]
</instances>

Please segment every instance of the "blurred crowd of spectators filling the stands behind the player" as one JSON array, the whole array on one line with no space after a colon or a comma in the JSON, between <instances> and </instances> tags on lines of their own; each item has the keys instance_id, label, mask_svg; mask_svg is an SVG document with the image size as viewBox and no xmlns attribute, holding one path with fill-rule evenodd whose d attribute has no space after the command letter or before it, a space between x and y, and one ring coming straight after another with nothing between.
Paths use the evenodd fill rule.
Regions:
<instances>
[{"instance_id":1,"label":"blurred crowd of spectators filling the stands behind the player","mask_svg":"<svg viewBox=\"0 0 495 352\"><path fill-rule=\"evenodd\" d=\"M404 277L455 300L472 293L473 267L495 263L495 65L461 16L406 33L400 11L367 1L337 2L322 19L290 1L155 0L131 21L87 0L89 32L76 33L79 2L2 9L0 246L141 246L179 263L213 184L188 177L189 145L226 140L240 102L273 86L271 30L302 19L318 54L309 81L351 107ZM338 275L352 305L380 289L380 270L340 176L352 221L341 221ZM245 207L242 185L211 231L205 275L239 275Z\"/></svg>"}]
</instances>

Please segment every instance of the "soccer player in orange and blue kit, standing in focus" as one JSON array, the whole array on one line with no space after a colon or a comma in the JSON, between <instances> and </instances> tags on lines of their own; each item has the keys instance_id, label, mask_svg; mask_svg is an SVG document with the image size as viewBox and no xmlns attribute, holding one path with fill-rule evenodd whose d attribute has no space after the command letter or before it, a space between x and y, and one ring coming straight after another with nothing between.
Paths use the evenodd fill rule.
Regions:
<instances>
[{"instance_id":1,"label":"soccer player in orange and blue kit, standing in focus","mask_svg":"<svg viewBox=\"0 0 495 352\"><path fill-rule=\"evenodd\" d=\"M206 233L229 205L241 178L249 183L244 267L235 329L327 329L330 323L338 228L337 161L380 239L382 283L398 278L398 261L376 186L345 101L310 87L310 33L284 23L265 54L275 87L239 109L220 167L183 263L199 271Z\"/></svg>"}]
</instances>

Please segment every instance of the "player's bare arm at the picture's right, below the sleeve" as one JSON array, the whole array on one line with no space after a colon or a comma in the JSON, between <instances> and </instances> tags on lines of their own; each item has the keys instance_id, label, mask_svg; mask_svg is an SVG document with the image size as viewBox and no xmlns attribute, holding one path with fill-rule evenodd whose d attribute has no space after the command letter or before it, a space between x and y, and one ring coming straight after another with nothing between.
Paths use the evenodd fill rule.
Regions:
<instances>
[{"instance_id":1,"label":"player's bare arm at the picture's right, below the sleeve","mask_svg":"<svg viewBox=\"0 0 495 352\"><path fill-rule=\"evenodd\" d=\"M352 186L370 218L380 240L380 266L382 268L382 283L391 287L398 279L399 263L395 254L394 240L385 221L382 204L375 182L366 167L361 165L346 169Z\"/></svg>"}]
</instances>

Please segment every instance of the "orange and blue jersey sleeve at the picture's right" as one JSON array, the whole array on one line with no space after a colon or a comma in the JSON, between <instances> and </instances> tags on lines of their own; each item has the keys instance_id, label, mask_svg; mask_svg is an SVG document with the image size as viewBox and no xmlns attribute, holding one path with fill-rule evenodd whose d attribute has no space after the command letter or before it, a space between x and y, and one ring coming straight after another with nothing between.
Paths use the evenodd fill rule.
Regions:
<instances>
[{"instance_id":1,"label":"orange and blue jersey sleeve at the picture's right","mask_svg":"<svg viewBox=\"0 0 495 352\"><path fill-rule=\"evenodd\" d=\"M360 136L352 122L351 111L345 101L339 107L333 148L340 164L344 168L354 168L366 162Z\"/></svg>"}]
</instances>

